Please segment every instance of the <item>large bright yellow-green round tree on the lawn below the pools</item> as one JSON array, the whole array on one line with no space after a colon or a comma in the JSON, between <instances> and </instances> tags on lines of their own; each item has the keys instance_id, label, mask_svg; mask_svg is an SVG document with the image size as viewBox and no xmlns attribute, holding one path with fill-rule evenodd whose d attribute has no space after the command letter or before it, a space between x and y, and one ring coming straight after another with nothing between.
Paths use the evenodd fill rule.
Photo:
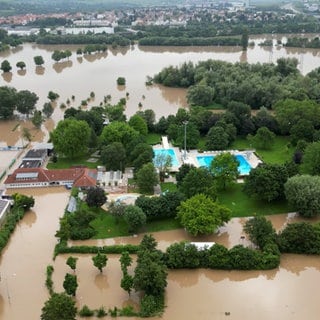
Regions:
<instances>
[{"instance_id":1,"label":"large bright yellow-green round tree on the lawn below the pools","mask_svg":"<svg viewBox=\"0 0 320 320\"><path fill-rule=\"evenodd\" d=\"M230 217L230 209L217 204L204 194L197 194L183 201L177 214L181 225L193 236L214 233L218 227L228 222Z\"/></svg>"}]
</instances>

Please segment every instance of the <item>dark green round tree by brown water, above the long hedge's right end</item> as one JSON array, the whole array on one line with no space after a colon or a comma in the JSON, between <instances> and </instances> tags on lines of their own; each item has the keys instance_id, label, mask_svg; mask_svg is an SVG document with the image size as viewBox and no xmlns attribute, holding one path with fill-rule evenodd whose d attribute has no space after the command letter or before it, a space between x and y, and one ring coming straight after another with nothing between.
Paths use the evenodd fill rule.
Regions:
<instances>
[{"instance_id":1,"label":"dark green round tree by brown water, above the long hedge's right end","mask_svg":"<svg viewBox=\"0 0 320 320\"><path fill-rule=\"evenodd\" d=\"M249 219L245 223L243 230L249 236L250 241L262 250L266 244L275 243L276 241L276 231L271 222L264 216L256 216Z\"/></svg>"}]
</instances>

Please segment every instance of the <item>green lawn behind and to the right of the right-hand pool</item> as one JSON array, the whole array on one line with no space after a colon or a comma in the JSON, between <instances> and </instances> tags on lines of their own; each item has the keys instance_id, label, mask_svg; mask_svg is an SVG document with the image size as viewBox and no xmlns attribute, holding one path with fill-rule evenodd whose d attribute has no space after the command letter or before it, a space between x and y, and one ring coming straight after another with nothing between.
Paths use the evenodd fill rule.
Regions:
<instances>
[{"instance_id":1,"label":"green lawn behind and to the right of the right-hand pool","mask_svg":"<svg viewBox=\"0 0 320 320\"><path fill-rule=\"evenodd\" d=\"M273 147L270 150L257 149L256 154L266 163L284 163L290 161L293 156L294 148L290 146L288 137L277 136ZM252 149L252 145L245 138L238 138L232 144L231 149Z\"/></svg>"}]
</instances>

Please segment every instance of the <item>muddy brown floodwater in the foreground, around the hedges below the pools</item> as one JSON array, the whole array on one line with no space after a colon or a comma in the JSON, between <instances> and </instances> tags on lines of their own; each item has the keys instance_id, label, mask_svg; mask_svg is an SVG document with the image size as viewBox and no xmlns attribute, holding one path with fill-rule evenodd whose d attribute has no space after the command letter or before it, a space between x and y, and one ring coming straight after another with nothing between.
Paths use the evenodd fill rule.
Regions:
<instances>
[{"instance_id":1,"label":"muddy brown floodwater in the foreground, around the hedges below the pools","mask_svg":"<svg viewBox=\"0 0 320 320\"><path fill-rule=\"evenodd\" d=\"M14 192L14 190L12 191ZM45 271L54 266L54 289L63 290L68 255L52 260L54 237L59 217L69 193L63 188L21 189L35 197L35 207L18 224L0 260L0 319L39 319L48 299ZM268 217L277 229L285 223L300 221L294 214ZM219 234L197 239L215 241L231 247L247 244L241 240L245 219L232 219ZM159 248L170 243L193 240L183 230L154 234ZM139 243L138 237L84 241L82 244ZM73 244L78 244L73 242ZM118 255L109 255L107 267L100 274L91 255L78 257L76 275L79 308L137 306L139 297L131 297L120 288L121 270ZM166 289L166 309L162 319L236 319L236 320L317 320L320 304L316 294L320 283L320 257L283 255L278 269L269 271L175 270L170 271ZM79 318L80 319L80 318ZM109 318L108 318L109 319ZM131 318L132 319L132 318Z\"/></svg>"}]
</instances>

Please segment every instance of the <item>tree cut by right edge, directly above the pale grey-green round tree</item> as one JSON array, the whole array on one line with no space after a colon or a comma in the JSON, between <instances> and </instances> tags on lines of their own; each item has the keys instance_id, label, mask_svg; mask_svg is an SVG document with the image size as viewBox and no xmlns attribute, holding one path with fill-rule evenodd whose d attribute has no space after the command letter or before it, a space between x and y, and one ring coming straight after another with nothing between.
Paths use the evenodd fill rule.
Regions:
<instances>
[{"instance_id":1,"label":"tree cut by right edge, directly above the pale grey-green round tree","mask_svg":"<svg viewBox=\"0 0 320 320\"><path fill-rule=\"evenodd\" d=\"M305 148L301 171L310 175L320 175L320 141L313 142Z\"/></svg>"}]
</instances>

